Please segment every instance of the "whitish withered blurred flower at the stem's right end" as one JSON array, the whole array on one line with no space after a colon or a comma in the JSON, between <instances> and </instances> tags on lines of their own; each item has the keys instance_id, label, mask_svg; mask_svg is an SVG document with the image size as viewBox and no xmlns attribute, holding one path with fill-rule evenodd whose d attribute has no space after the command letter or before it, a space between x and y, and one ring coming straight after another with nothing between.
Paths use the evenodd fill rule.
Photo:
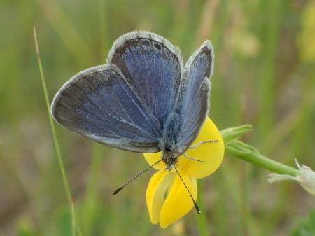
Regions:
<instances>
[{"instance_id":1,"label":"whitish withered blurred flower at the stem's right end","mask_svg":"<svg viewBox=\"0 0 315 236\"><path fill-rule=\"evenodd\" d=\"M285 181L285 180L294 180L307 190L307 192L311 193L311 195L315 196L315 172L311 170L310 167L306 165L300 166L297 160L295 159L295 164L299 169L296 176L290 176L288 174L269 174L269 183L274 183L278 181Z\"/></svg>"}]
</instances>

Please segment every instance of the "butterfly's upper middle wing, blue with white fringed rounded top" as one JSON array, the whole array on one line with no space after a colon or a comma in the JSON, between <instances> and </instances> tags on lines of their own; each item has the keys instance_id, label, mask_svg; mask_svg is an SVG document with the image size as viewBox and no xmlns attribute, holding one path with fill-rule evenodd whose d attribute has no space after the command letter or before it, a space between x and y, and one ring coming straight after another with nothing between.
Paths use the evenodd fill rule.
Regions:
<instances>
[{"instance_id":1,"label":"butterfly's upper middle wing, blue with white fringed rounded top","mask_svg":"<svg viewBox=\"0 0 315 236\"><path fill-rule=\"evenodd\" d=\"M121 69L141 104L160 125L175 106L181 81L179 48L151 32L131 32L116 40L109 64Z\"/></svg>"}]
</instances>

